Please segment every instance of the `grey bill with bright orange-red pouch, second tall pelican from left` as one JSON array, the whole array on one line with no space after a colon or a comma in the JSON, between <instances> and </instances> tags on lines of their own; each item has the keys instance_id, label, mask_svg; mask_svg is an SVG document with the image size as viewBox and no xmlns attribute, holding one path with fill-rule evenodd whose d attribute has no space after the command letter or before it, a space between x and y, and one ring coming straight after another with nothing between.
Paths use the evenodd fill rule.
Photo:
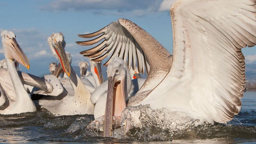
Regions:
<instances>
[{"instance_id":1,"label":"grey bill with bright orange-red pouch, second tall pelican from left","mask_svg":"<svg viewBox=\"0 0 256 144\"><path fill-rule=\"evenodd\" d=\"M62 47L62 43L58 42L57 44L53 45L55 52L57 53L59 59L60 59L60 64L62 66L63 71L70 76L71 73L71 68L70 68L70 63L68 61L67 55L65 53L64 48Z\"/></svg>"}]
</instances>

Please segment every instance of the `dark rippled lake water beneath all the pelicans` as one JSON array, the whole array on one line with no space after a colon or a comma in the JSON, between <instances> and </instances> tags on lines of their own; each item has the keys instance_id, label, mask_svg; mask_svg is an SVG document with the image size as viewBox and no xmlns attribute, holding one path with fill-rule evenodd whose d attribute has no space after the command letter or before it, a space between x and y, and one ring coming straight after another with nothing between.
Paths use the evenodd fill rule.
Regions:
<instances>
[{"instance_id":1,"label":"dark rippled lake water beneath all the pelicans","mask_svg":"<svg viewBox=\"0 0 256 144\"><path fill-rule=\"evenodd\" d=\"M145 108L146 110L150 110ZM170 114L174 115L174 114ZM178 114L180 116L180 114ZM86 126L93 121L92 115L55 117L45 109L33 113L0 116L0 143L253 143L256 142L256 92L246 92L242 99L242 110L228 124L193 126L194 121L187 121L182 129L179 124L175 130L164 128L168 122L159 127L154 117L161 117L161 112L144 115L145 122L141 128L132 128L127 135L115 138L103 138L102 132L88 130ZM180 116L182 117L182 116ZM182 123L183 123L182 122ZM161 123L161 122L159 122ZM172 123L173 124L173 123ZM155 125L155 126L154 126Z\"/></svg>"}]
</instances>

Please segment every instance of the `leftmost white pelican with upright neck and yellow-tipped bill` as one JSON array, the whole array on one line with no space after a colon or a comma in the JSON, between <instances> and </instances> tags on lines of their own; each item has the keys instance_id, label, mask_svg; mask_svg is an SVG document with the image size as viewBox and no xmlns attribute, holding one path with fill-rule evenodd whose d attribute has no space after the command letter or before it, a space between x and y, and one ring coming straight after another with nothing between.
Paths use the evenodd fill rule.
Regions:
<instances>
[{"instance_id":1,"label":"leftmost white pelican with upright neck and yellow-tipped bill","mask_svg":"<svg viewBox=\"0 0 256 144\"><path fill-rule=\"evenodd\" d=\"M18 114L24 112L34 112L36 107L26 92L13 59L29 69L29 61L25 53L16 41L16 36L12 31L1 31L4 56L8 75L1 72L1 102L0 114ZM0 68L0 70L5 70Z\"/></svg>"}]
</instances>

